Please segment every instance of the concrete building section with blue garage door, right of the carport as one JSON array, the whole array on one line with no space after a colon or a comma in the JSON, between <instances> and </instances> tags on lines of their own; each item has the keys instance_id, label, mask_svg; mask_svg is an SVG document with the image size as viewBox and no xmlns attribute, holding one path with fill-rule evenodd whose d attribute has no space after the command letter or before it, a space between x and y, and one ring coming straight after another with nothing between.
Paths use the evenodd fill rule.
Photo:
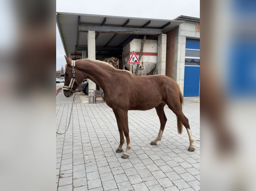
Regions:
<instances>
[{"instance_id":1,"label":"concrete building section with blue garage door, right of the carport","mask_svg":"<svg viewBox=\"0 0 256 191\"><path fill-rule=\"evenodd\" d=\"M179 84L184 96L200 96L200 19L174 20L185 22L166 33L166 76Z\"/></svg>"}]
</instances>

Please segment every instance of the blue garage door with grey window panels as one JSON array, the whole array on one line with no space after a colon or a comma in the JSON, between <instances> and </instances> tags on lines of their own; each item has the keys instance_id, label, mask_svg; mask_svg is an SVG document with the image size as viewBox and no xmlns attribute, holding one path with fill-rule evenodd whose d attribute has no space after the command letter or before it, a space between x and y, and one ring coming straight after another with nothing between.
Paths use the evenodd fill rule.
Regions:
<instances>
[{"instance_id":1,"label":"blue garage door with grey window panels","mask_svg":"<svg viewBox=\"0 0 256 191\"><path fill-rule=\"evenodd\" d=\"M198 39L186 39L183 96L200 96L200 40Z\"/></svg>"}]
</instances>

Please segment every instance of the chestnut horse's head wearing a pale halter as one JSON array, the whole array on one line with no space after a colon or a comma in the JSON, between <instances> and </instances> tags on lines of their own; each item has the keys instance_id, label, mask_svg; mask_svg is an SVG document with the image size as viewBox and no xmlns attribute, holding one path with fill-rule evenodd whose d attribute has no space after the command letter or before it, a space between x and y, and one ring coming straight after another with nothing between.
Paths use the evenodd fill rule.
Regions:
<instances>
[{"instance_id":1,"label":"chestnut horse's head wearing a pale halter","mask_svg":"<svg viewBox=\"0 0 256 191\"><path fill-rule=\"evenodd\" d=\"M65 68L65 82L62 89L64 95L66 97L70 97L73 95L73 93L75 93L84 77L82 72L77 69L75 61L73 61L71 58L67 58L66 56L65 59L67 64Z\"/></svg>"}]
</instances>

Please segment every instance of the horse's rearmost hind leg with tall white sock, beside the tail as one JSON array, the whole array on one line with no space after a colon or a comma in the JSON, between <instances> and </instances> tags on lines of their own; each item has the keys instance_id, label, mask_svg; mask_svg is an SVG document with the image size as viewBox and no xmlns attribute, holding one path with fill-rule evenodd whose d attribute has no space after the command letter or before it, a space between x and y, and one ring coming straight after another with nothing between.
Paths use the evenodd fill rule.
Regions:
<instances>
[{"instance_id":1,"label":"horse's rearmost hind leg with tall white sock, beside the tail","mask_svg":"<svg viewBox=\"0 0 256 191\"><path fill-rule=\"evenodd\" d=\"M178 102L176 104L172 103L172 104L167 104L167 105L177 116L178 132L181 134L182 124L186 127L188 138L189 138L189 147L188 147L187 150L190 151L190 152L194 151L195 150L194 138L193 138L192 133L190 131L190 126L189 126L189 123L188 123L188 119L186 118L186 116L182 112L181 104ZM175 105L175 107L173 105Z\"/></svg>"}]
</instances>

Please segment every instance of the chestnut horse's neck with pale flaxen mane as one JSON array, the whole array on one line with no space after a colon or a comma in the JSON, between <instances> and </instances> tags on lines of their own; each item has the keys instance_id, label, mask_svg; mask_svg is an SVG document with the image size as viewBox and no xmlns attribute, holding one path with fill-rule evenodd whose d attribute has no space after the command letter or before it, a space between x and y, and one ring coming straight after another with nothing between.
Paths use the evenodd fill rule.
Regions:
<instances>
[{"instance_id":1,"label":"chestnut horse's neck with pale flaxen mane","mask_svg":"<svg viewBox=\"0 0 256 191\"><path fill-rule=\"evenodd\" d=\"M79 63L78 63L79 64ZM97 61L84 60L78 65L84 72L84 77L92 80L104 91L108 89L108 83L111 79L112 68L104 64L98 64Z\"/></svg>"}]
</instances>

